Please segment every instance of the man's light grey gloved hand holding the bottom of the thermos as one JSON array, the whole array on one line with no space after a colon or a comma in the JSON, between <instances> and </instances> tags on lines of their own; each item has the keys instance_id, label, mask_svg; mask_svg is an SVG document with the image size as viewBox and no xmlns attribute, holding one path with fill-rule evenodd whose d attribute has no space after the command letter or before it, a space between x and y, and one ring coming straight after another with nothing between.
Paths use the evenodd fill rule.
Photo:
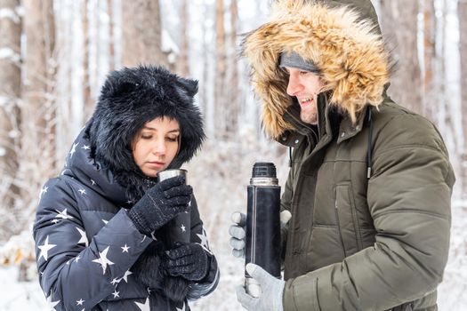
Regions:
<instances>
[{"instance_id":1,"label":"man's light grey gloved hand holding the bottom of the thermos","mask_svg":"<svg viewBox=\"0 0 467 311\"><path fill-rule=\"evenodd\" d=\"M242 307L254 311L283 311L282 296L286 283L252 263L246 265L246 272L260 283L262 294L254 298L246 293L245 287L238 286L237 299Z\"/></svg>"}]
</instances>

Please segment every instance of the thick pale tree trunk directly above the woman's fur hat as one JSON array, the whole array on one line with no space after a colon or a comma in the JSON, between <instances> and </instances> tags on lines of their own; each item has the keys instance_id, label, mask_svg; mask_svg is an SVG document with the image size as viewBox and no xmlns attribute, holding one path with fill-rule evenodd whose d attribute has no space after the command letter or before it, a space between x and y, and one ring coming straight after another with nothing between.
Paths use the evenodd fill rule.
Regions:
<instances>
[{"instance_id":1,"label":"thick pale tree trunk directly above the woman's fur hat","mask_svg":"<svg viewBox=\"0 0 467 311\"><path fill-rule=\"evenodd\" d=\"M162 24L158 0L123 2L123 65L169 66L162 51Z\"/></svg>"}]
</instances>

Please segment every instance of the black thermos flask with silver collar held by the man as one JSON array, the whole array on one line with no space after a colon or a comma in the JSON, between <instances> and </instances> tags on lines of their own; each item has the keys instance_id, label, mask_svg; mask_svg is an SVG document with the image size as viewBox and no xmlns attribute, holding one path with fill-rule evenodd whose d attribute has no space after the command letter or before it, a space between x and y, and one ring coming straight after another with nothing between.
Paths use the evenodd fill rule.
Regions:
<instances>
[{"instance_id":1,"label":"black thermos flask with silver collar held by the man","mask_svg":"<svg viewBox=\"0 0 467 311\"><path fill-rule=\"evenodd\" d=\"M247 187L246 263L254 263L280 278L280 187L274 163L254 163ZM245 287L253 297L261 287L245 273Z\"/></svg>"}]
</instances>

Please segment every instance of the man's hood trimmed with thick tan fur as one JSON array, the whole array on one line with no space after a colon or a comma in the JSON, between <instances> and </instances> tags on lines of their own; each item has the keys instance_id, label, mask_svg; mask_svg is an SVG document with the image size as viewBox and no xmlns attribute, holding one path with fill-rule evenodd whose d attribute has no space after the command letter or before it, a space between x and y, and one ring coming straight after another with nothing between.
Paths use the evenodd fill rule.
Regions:
<instances>
[{"instance_id":1,"label":"man's hood trimmed with thick tan fur","mask_svg":"<svg viewBox=\"0 0 467 311\"><path fill-rule=\"evenodd\" d=\"M297 52L320 70L329 102L355 122L367 105L382 102L391 60L370 0L277 0L270 21L247 34L243 55L262 102L262 123L277 139L294 127L283 119L293 100L281 53Z\"/></svg>"}]
</instances>

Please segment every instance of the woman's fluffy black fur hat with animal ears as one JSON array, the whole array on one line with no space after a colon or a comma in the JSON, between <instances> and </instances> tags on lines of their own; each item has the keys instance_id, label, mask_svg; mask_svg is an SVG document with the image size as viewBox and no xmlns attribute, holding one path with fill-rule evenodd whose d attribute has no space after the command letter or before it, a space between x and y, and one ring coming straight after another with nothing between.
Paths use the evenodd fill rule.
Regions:
<instances>
[{"instance_id":1,"label":"woman's fluffy black fur hat with animal ears","mask_svg":"<svg viewBox=\"0 0 467 311\"><path fill-rule=\"evenodd\" d=\"M180 167L205 140L203 119L193 103L196 93L197 81L161 67L140 66L111 72L101 88L89 127L92 155L117 178L128 179L128 174L143 177L133 160L133 138L147 122L167 116L181 126L180 150L170 168Z\"/></svg>"}]
</instances>

